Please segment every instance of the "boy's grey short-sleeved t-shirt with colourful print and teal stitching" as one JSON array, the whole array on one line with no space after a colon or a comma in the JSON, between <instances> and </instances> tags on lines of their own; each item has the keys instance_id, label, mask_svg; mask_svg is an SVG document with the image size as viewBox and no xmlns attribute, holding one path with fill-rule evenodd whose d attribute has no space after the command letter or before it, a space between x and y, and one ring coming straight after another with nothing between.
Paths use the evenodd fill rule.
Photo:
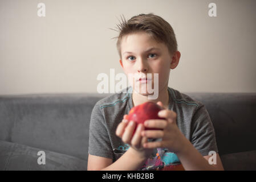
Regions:
<instances>
[{"instance_id":1,"label":"boy's grey short-sleeved t-shirt with colourful print and teal stitching","mask_svg":"<svg viewBox=\"0 0 256 182\"><path fill-rule=\"evenodd\" d=\"M124 114L133 107L132 87L126 92L115 93L98 101L91 114L88 154L111 158L113 162L120 158L129 145L116 136L117 125ZM168 87L169 109L177 113L177 126L202 156L210 151L218 152L214 128L205 105L193 100L186 94ZM141 170L163 169L166 166L180 164L177 156L167 148L156 148Z\"/></svg>"}]
</instances>

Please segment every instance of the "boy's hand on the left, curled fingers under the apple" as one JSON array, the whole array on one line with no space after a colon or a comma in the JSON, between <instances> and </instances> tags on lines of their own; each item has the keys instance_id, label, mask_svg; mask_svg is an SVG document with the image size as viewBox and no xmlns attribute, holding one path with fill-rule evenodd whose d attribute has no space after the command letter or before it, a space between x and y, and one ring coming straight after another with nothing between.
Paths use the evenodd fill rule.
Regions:
<instances>
[{"instance_id":1,"label":"boy's hand on the left, curled fingers under the apple","mask_svg":"<svg viewBox=\"0 0 256 182\"><path fill-rule=\"evenodd\" d=\"M138 152L141 157L148 158L152 153L152 149L143 148L143 144L147 142L147 137L142 137L141 132L144 131L143 124L139 124L135 131L135 134L132 136L135 126L137 125L134 121L128 122L127 114L124 115L124 118L121 123L117 126L116 135L120 137L124 143L129 144Z\"/></svg>"}]
</instances>

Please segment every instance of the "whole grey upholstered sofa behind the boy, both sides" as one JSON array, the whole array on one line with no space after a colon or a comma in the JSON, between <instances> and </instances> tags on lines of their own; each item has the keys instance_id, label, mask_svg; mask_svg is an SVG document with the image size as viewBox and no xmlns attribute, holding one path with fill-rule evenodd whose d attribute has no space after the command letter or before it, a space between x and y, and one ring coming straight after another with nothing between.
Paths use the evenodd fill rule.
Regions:
<instances>
[{"instance_id":1,"label":"whole grey upholstered sofa behind the boy, both sides","mask_svg":"<svg viewBox=\"0 0 256 182\"><path fill-rule=\"evenodd\" d=\"M206 105L224 168L255 170L256 93L185 94ZM91 111L108 95L0 96L0 170L86 170Z\"/></svg>"}]
</instances>

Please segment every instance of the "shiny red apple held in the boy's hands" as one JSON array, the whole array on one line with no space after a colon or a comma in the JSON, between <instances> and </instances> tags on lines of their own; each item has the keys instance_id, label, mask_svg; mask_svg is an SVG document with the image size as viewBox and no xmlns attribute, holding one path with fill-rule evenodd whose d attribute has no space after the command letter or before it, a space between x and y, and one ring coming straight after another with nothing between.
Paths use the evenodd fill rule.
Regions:
<instances>
[{"instance_id":1,"label":"shiny red apple held in the boy's hands","mask_svg":"<svg viewBox=\"0 0 256 182\"><path fill-rule=\"evenodd\" d=\"M155 104L154 102L145 102L143 104L132 107L129 111L127 120L134 121L139 125L140 123L144 124L144 122L148 119L164 119L158 116L159 111L162 110L162 107ZM136 131L137 125L133 134ZM159 130L145 127L145 130Z\"/></svg>"}]
</instances>

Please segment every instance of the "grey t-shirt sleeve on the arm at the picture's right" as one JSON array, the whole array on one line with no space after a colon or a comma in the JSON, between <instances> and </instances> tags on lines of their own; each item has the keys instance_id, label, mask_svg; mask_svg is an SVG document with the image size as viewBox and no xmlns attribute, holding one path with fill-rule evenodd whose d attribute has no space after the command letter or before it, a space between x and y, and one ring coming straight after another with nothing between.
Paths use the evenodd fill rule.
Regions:
<instances>
[{"instance_id":1,"label":"grey t-shirt sleeve on the arm at the picture's right","mask_svg":"<svg viewBox=\"0 0 256 182\"><path fill-rule=\"evenodd\" d=\"M191 143L202 156L209 155L210 151L218 153L213 123L203 104L198 107L193 115L191 135Z\"/></svg>"}]
</instances>

